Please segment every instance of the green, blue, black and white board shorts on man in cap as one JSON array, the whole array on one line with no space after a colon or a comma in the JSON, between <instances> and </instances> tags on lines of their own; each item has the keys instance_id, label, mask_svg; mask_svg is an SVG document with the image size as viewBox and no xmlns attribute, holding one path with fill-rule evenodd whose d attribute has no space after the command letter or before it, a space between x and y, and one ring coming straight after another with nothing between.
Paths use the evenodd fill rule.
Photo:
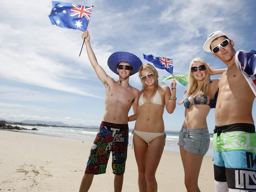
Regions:
<instances>
[{"instance_id":1,"label":"green, blue, black and white board shorts on man in cap","mask_svg":"<svg viewBox=\"0 0 256 192\"><path fill-rule=\"evenodd\" d=\"M215 126L213 149L215 191L256 192L254 125Z\"/></svg>"}]
</instances>

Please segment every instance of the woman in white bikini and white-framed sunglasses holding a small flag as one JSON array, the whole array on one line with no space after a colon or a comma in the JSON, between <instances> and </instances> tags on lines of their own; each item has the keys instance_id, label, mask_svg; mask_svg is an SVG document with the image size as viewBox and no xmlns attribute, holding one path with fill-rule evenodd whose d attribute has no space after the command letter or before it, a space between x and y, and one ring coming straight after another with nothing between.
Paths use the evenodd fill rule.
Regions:
<instances>
[{"instance_id":1,"label":"woman in white bikini and white-framed sunglasses holding a small flag","mask_svg":"<svg viewBox=\"0 0 256 192\"><path fill-rule=\"evenodd\" d=\"M165 133L164 107L173 113L176 107L176 82L168 86L158 84L158 72L154 66L145 64L139 68L142 82L137 113L129 117L136 120L134 127L134 153L137 161L140 192L157 192L156 169L163 153Z\"/></svg>"}]
</instances>

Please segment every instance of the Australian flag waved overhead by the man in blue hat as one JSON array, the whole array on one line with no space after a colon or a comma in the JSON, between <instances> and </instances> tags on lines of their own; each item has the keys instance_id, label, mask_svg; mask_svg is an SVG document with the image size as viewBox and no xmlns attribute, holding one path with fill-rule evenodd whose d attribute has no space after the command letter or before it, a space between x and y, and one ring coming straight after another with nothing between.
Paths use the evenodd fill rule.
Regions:
<instances>
[{"instance_id":1,"label":"Australian flag waved overhead by the man in blue hat","mask_svg":"<svg viewBox=\"0 0 256 192\"><path fill-rule=\"evenodd\" d=\"M52 24L61 28L85 31L93 7L80 6L61 1L52 2L52 13L48 16Z\"/></svg>"}]
</instances>

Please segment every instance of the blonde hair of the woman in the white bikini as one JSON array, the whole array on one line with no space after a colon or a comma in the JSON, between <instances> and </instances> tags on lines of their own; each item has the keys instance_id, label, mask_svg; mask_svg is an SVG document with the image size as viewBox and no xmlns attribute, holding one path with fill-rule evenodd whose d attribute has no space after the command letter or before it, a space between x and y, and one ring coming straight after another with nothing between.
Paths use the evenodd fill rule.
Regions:
<instances>
[{"instance_id":1,"label":"blonde hair of the woman in the white bikini","mask_svg":"<svg viewBox=\"0 0 256 192\"><path fill-rule=\"evenodd\" d=\"M142 65L140 68L139 68L139 79L141 79L141 72L142 71L147 71L149 73L153 73L154 75L154 78L155 78L155 83L154 83L154 90L152 92L152 94L156 94L156 91L159 87L159 84L158 84L158 71L156 70L156 68L153 66L153 65L150 65L149 63L146 63L145 65ZM142 87L141 87L141 91L139 92L139 95L141 95L143 92L145 92L145 90L147 89L147 84L141 80L141 83L142 83Z\"/></svg>"}]
</instances>

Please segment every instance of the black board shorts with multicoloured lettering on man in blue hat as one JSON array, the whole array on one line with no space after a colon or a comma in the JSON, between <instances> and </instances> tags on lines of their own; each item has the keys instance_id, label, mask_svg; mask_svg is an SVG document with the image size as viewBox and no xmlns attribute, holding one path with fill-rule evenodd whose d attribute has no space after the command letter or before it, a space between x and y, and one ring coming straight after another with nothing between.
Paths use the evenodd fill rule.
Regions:
<instances>
[{"instance_id":1,"label":"black board shorts with multicoloured lettering on man in blue hat","mask_svg":"<svg viewBox=\"0 0 256 192\"><path fill-rule=\"evenodd\" d=\"M101 122L91 146L85 174L104 174L112 152L113 174L124 174L128 146L128 124Z\"/></svg>"}]
</instances>

